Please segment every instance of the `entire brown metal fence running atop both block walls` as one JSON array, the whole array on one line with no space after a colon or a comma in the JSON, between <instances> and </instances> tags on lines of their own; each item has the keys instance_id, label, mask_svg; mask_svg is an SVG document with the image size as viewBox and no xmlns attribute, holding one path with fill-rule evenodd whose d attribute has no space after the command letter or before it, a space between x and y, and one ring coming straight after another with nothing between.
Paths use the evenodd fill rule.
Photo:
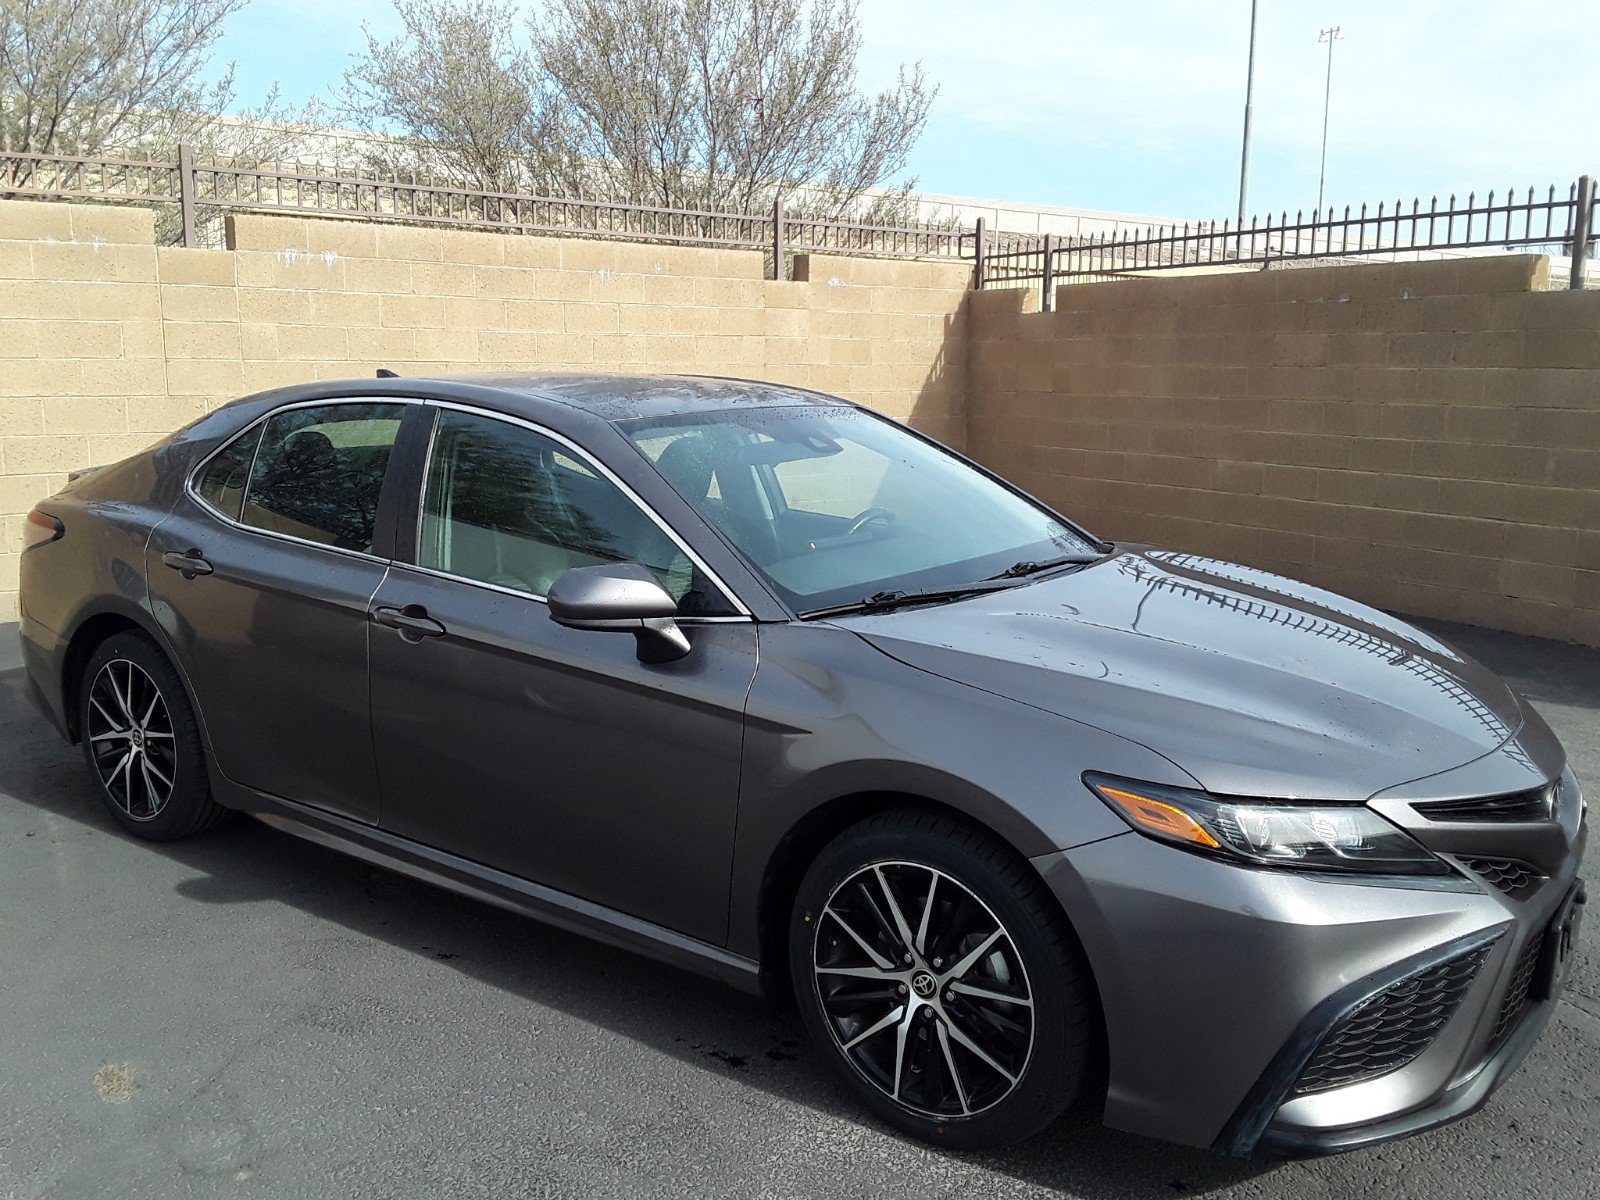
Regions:
<instances>
[{"instance_id":1,"label":"entire brown metal fence running atop both block walls","mask_svg":"<svg viewBox=\"0 0 1600 1200\"><path fill-rule=\"evenodd\" d=\"M243 165L202 160L181 146L176 162L0 152L0 198L98 200L155 206L173 214L173 240L221 243L227 213L301 213L326 218L456 226L509 234L603 237L693 246L763 250L774 277L805 251L883 258L968 259L973 286L1040 290L1054 306L1059 283L1126 278L1163 270L1245 270L1339 259L1382 259L1451 251L1546 250L1571 259L1568 285L1581 288L1595 240L1595 181L1582 176L1562 195L1477 194L1443 205L1413 200L1358 210L1253 218L1248 226L1133 226L1086 237L1043 237L941 224L877 226L789 213L782 198L765 213L714 213L582 197L490 192L432 178L373 178L299 163Z\"/></svg>"}]
</instances>

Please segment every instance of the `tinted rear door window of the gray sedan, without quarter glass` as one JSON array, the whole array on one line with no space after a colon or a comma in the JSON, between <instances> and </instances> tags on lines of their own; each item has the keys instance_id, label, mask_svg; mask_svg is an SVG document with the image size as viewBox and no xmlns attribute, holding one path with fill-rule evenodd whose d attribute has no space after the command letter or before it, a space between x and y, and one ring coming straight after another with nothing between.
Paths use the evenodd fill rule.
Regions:
<instances>
[{"instance_id":1,"label":"tinted rear door window of the gray sedan, without quarter glass","mask_svg":"<svg viewBox=\"0 0 1600 1200\"><path fill-rule=\"evenodd\" d=\"M373 549L378 496L405 405L291 408L262 429L240 520L272 533Z\"/></svg>"}]
</instances>

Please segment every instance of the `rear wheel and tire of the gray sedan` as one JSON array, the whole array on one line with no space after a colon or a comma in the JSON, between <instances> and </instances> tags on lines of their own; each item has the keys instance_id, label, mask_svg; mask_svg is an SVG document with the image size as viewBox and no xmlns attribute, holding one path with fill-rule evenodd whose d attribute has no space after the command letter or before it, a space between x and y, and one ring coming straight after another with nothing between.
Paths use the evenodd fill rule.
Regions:
<instances>
[{"instance_id":1,"label":"rear wheel and tire of the gray sedan","mask_svg":"<svg viewBox=\"0 0 1600 1200\"><path fill-rule=\"evenodd\" d=\"M211 798L205 742L182 680L147 635L112 634L78 683L78 730L101 800L147 842L173 842L229 816Z\"/></svg>"}]
</instances>

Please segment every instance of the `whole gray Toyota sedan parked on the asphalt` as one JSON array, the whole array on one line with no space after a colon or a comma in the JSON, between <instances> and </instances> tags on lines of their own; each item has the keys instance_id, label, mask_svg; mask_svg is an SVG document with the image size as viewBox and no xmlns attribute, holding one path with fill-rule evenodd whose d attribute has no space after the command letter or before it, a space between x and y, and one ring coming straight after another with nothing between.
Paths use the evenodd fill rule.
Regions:
<instances>
[{"instance_id":1,"label":"whole gray Toyota sedan parked on the asphalt","mask_svg":"<svg viewBox=\"0 0 1600 1200\"><path fill-rule=\"evenodd\" d=\"M1494 675L843 400L294 387L26 534L32 690L131 834L251 813L792 992L934 1142L1075 1102L1398 1138L1485 1102L1571 960L1584 800Z\"/></svg>"}]
</instances>

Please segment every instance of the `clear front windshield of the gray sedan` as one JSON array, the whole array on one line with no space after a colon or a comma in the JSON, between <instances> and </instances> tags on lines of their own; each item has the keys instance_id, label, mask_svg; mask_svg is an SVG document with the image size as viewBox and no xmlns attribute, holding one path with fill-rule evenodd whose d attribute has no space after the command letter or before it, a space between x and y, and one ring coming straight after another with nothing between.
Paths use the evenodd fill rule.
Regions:
<instances>
[{"instance_id":1,"label":"clear front windshield of the gray sedan","mask_svg":"<svg viewBox=\"0 0 1600 1200\"><path fill-rule=\"evenodd\" d=\"M1083 534L854 408L738 408L624 432L797 613L1094 554Z\"/></svg>"}]
</instances>

